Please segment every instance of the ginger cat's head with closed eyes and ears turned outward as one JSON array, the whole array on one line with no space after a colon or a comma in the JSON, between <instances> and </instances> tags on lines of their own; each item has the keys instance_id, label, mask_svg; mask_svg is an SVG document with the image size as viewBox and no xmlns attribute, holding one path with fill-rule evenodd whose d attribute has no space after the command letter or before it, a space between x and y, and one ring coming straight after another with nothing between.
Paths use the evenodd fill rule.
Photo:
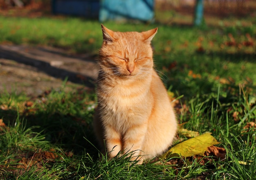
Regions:
<instances>
[{"instance_id":1,"label":"ginger cat's head with closed eyes and ears turned outward","mask_svg":"<svg viewBox=\"0 0 256 180\"><path fill-rule=\"evenodd\" d=\"M99 65L106 75L147 75L153 69L151 40L157 28L145 32L115 32L101 25L103 44Z\"/></svg>"}]
</instances>

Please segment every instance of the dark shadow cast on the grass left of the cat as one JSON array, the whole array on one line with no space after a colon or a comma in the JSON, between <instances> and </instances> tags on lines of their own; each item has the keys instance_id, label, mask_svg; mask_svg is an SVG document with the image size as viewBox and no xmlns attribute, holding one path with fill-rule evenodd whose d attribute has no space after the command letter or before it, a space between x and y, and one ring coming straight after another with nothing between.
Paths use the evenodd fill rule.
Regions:
<instances>
[{"instance_id":1,"label":"dark shadow cast on the grass left of the cat","mask_svg":"<svg viewBox=\"0 0 256 180\"><path fill-rule=\"evenodd\" d=\"M72 152L76 155L89 153L92 157L98 154L93 146L97 147L97 141L92 128L91 113L81 117L38 109L29 109L20 113L11 109L0 109L0 119L10 126L15 126L18 119L25 129L36 127L32 129L34 132L43 135L44 140L51 143L52 147L57 145L65 152Z\"/></svg>"}]
</instances>

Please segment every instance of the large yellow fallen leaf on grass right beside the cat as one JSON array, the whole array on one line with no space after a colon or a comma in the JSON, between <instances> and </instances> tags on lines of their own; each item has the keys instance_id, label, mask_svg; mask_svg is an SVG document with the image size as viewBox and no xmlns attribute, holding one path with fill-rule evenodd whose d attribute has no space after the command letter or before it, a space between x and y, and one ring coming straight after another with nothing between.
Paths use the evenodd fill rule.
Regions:
<instances>
[{"instance_id":1,"label":"large yellow fallen leaf on grass right beside the cat","mask_svg":"<svg viewBox=\"0 0 256 180\"><path fill-rule=\"evenodd\" d=\"M176 154L184 157L194 155L203 156L208 147L216 144L219 144L219 142L213 136L211 136L211 133L205 133L175 145L164 155L162 155L161 158L164 159L170 154Z\"/></svg>"}]
</instances>

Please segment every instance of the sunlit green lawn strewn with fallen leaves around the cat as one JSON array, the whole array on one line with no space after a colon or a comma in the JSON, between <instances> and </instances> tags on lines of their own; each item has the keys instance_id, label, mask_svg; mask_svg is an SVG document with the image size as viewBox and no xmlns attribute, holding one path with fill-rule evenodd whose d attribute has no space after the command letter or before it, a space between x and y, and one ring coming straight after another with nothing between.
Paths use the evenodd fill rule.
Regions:
<instances>
[{"instance_id":1,"label":"sunlit green lawn strewn with fallen leaves around the cat","mask_svg":"<svg viewBox=\"0 0 256 180\"><path fill-rule=\"evenodd\" d=\"M81 85L38 97L0 93L1 179L255 179L256 26L195 28L106 22L115 31L146 31L153 39L155 68L174 101L180 128L211 132L224 158L156 157L135 165L129 156L101 158L92 131L97 97ZM100 23L81 18L0 16L1 44L65 48L95 55ZM18 88L18 87L17 87ZM191 137L177 133L174 145ZM217 152L217 154L220 153Z\"/></svg>"}]
</instances>

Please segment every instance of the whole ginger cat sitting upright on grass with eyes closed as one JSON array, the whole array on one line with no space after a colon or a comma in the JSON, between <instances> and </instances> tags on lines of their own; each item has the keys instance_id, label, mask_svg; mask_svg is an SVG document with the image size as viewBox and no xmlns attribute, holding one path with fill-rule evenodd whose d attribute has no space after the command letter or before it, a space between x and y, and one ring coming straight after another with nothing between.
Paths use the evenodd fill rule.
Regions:
<instances>
[{"instance_id":1,"label":"whole ginger cat sitting upright on grass with eyes closed","mask_svg":"<svg viewBox=\"0 0 256 180\"><path fill-rule=\"evenodd\" d=\"M94 131L108 157L133 151L132 160L153 158L168 149L177 122L166 89L153 68L150 42L157 28L114 32L101 25L98 108Z\"/></svg>"}]
</instances>

